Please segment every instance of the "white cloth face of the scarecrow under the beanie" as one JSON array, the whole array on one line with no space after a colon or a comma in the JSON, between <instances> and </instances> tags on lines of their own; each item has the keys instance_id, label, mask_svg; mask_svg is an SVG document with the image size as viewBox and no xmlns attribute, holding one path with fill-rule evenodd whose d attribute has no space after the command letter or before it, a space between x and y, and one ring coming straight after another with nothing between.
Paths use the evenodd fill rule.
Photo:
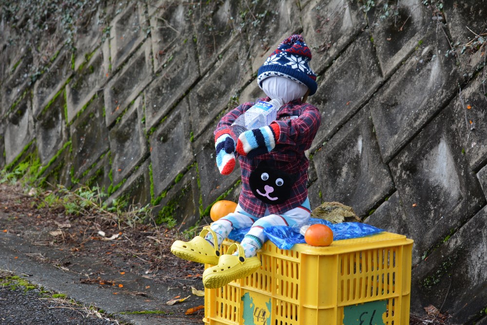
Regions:
<instances>
[{"instance_id":1,"label":"white cloth face of the scarecrow under the beanie","mask_svg":"<svg viewBox=\"0 0 487 325\"><path fill-rule=\"evenodd\" d=\"M262 90L271 99L281 100L282 104L304 96L308 87L286 77L272 76L262 81Z\"/></svg>"}]
</instances>

